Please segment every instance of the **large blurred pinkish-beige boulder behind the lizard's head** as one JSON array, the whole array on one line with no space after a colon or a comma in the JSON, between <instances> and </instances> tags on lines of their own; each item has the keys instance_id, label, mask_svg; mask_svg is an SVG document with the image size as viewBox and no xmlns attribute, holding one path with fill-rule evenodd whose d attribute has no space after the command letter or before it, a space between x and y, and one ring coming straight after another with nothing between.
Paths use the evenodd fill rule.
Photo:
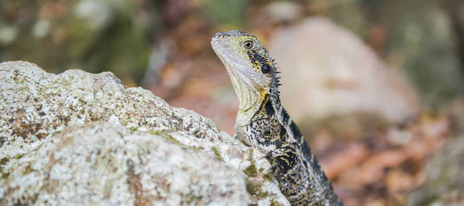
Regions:
<instances>
[{"instance_id":1,"label":"large blurred pinkish-beige boulder behind the lizard's head","mask_svg":"<svg viewBox=\"0 0 464 206\"><path fill-rule=\"evenodd\" d=\"M354 34L327 19L307 19L276 32L269 52L283 71L280 94L297 122L352 113L401 122L419 110L419 98L401 72L387 68Z\"/></svg>"}]
</instances>

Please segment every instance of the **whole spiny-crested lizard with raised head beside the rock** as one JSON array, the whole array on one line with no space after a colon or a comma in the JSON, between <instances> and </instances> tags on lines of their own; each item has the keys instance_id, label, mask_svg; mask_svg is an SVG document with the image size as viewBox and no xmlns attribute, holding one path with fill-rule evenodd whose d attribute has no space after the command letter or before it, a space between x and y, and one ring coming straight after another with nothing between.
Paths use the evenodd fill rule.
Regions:
<instances>
[{"instance_id":1,"label":"whole spiny-crested lizard with raised head beside the rock","mask_svg":"<svg viewBox=\"0 0 464 206\"><path fill-rule=\"evenodd\" d=\"M280 102L274 58L253 34L219 32L212 49L239 98L234 136L265 151L291 205L343 205L305 138Z\"/></svg>"}]
</instances>

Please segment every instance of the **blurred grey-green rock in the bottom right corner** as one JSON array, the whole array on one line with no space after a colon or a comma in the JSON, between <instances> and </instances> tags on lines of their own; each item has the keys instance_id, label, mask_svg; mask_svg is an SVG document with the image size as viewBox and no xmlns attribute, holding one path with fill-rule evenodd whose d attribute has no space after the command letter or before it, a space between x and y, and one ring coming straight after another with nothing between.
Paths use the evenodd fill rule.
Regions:
<instances>
[{"instance_id":1,"label":"blurred grey-green rock in the bottom right corner","mask_svg":"<svg viewBox=\"0 0 464 206\"><path fill-rule=\"evenodd\" d=\"M406 205L464 205L464 135L450 141L426 166L427 180Z\"/></svg>"}]
</instances>

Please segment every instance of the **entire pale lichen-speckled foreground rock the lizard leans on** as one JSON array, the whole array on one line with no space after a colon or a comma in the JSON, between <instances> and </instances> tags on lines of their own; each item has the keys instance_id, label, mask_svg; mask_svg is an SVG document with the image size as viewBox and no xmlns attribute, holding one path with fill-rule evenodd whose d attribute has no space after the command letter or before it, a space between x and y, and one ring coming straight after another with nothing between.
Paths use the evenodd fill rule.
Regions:
<instances>
[{"instance_id":1,"label":"entire pale lichen-speckled foreground rock the lizard leans on","mask_svg":"<svg viewBox=\"0 0 464 206\"><path fill-rule=\"evenodd\" d=\"M263 153L112 73L0 64L1 205L289 205Z\"/></svg>"}]
</instances>

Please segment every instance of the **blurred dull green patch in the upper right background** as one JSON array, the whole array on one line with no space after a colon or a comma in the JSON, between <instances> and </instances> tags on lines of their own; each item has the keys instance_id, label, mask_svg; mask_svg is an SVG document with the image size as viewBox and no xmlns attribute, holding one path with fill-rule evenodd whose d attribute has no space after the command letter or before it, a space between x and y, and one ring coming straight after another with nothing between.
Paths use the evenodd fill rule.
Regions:
<instances>
[{"instance_id":1,"label":"blurred dull green patch in the upper right background","mask_svg":"<svg viewBox=\"0 0 464 206\"><path fill-rule=\"evenodd\" d=\"M385 25L390 39L388 56L399 55L404 71L428 104L443 103L464 93L462 66L456 38L441 1L377 1L377 22Z\"/></svg>"}]
</instances>

